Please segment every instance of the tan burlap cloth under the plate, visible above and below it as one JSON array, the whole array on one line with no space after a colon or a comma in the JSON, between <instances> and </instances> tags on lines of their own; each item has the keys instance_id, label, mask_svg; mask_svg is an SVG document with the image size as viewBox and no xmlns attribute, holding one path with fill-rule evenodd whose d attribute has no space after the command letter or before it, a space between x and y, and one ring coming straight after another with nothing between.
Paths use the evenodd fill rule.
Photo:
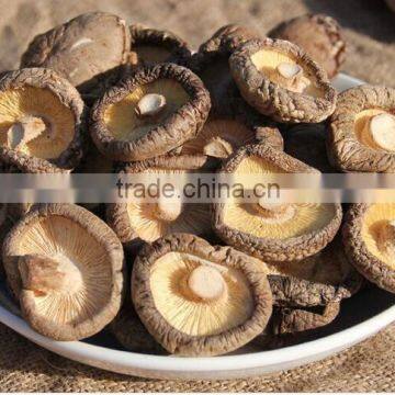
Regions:
<instances>
[{"instance_id":1,"label":"tan burlap cloth under the plate, visible above and below it","mask_svg":"<svg viewBox=\"0 0 395 395\"><path fill-rule=\"evenodd\" d=\"M395 86L395 16L381 0L0 0L0 70L18 67L37 33L81 12L103 10L128 22L169 29L194 47L229 22L262 34L283 18L326 12L346 27L345 71ZM0 325L0 391L103 392L319 392L395 391L395 326L334 358L280 374L222 382L127 377L68 361Z\"/></svg>"}]
</instances>

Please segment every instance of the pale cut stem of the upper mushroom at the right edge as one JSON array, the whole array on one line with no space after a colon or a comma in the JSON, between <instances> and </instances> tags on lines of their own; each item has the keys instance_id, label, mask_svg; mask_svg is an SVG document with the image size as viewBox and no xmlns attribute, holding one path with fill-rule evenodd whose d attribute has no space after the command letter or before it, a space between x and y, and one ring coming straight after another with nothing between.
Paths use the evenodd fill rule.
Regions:
<instances>
[{"instance_id":1,"label":"pale cut stem of the upper mushroom at the right edge","mask_svg":"<svg viewBox=\"0 0 395 395\"><path fill-rule=\"evenodd\" d=\"M383 149L395 151L395 116L382 113L373 116L369 123L373 142Z\"/></svg>"}]
</instances>

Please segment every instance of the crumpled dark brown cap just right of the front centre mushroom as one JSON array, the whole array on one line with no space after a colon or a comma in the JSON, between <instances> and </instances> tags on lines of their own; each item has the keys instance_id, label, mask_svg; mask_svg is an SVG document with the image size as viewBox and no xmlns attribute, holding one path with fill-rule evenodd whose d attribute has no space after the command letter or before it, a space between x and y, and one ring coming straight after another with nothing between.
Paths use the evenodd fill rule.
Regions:
<instances>
[{"instance_id":1,"label":"crumpled dark brown cap just right of the front centre mushroom","mask_svg":"<svg viewBox=\"0 0 395 395\"><path fill-rule=\"evenodd\" d=\"M362 276L347 260L340 238L301 261L268 264L273 304L286 307L325 306L351 297Z\"/></svg>"}]
</instances>

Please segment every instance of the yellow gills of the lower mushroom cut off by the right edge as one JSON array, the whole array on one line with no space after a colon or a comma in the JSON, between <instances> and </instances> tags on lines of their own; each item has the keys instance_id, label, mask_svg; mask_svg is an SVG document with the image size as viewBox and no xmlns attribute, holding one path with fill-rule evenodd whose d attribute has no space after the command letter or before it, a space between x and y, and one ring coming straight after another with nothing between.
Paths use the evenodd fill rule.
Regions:
<instances>
[{"instance_id":1,"label":"yellow gills of the lower mushroom cut off by the right edge","mask_svg":"<svg viewBox=\"0 0 395 395\"><path fill-rule=\"evenodd\" d=\"M395 221L395 204L372 204L363 216L361 236L369 252L395 270L395 233L390 222Z\"/></svg>"}]
</instances>

